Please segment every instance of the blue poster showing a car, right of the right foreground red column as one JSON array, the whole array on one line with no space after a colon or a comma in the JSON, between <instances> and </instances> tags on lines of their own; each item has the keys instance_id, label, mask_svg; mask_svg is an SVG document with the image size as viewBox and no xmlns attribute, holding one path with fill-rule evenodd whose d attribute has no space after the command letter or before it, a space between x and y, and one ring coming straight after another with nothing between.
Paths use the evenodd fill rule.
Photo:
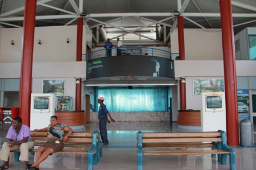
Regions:
<instances>
[{"instance_id":1,"label":"blue poster showing a car, right of the right foreground red column","mask_svg":"<svg viewBox=\"0 0 256 170\"><path fill-rule=\"evenodd\" d=\"M238 121L250 120L249 112L249 90L237 90Z\"/></svg>"}]
</instances>

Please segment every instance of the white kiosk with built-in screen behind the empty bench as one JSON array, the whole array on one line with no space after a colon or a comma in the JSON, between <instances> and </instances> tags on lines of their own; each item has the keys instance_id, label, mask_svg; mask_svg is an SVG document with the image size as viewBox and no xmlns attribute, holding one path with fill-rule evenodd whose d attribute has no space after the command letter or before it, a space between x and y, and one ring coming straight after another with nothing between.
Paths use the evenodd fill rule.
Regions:
<instances>
[{"instance_id":1,"label":"white kiosk with built-in screen behind the empty bench","mask_svg":"<svg viewBox=\"0 0 256 170\"><path fill-rule=\"evenodd\" d=\"M201 101L201 130L226 131L225 93L201 93Z\"/></svg>"}]
</instances>

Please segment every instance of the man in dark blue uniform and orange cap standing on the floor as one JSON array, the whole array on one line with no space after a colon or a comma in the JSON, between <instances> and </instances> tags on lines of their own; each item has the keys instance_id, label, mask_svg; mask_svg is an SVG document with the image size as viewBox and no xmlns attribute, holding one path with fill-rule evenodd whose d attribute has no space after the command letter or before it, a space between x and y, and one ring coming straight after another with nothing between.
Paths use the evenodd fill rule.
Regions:
<instances>
[{"instance_id":1,"label":"man in dark blue uniform and orange cap standing on the floor","mask_svg":"<svg viewBox=\"0 0 256 170\"><path fill-rule=\"evenodd\" d=\"M101 105L99 106L99 113L98 113L98 119L99 119L99 132L101 134L101 140L103 143L103 146L109 145L109 140L107 140L107 122L110 123L109 120L107 120L107 115L109 115L109 118L112 122L115 122L115 120L111 117L109 110L107 110L106 105L103 104L103 101L105 99L103 97L99 97L97 99L98 103Z\"/></svg>"}]
</instances>

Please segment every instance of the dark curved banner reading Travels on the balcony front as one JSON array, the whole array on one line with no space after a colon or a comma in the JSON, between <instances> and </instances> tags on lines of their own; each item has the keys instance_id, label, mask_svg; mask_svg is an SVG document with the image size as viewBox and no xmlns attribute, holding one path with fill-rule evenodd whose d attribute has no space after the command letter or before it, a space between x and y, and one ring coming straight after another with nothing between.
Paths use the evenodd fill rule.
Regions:
<instances>
[{"instance_id":1,"label":"dark curved banner reading Travels on the balcony front","mask_svg":"<svg viewBox=\"0 0 256 170\"><path fill-rule=\"evenodd\" d=\"M151 76L175 79L174 61L155 56L111 56L87 61L86 80L114 76Z\"/></svg>"}]
</instances>

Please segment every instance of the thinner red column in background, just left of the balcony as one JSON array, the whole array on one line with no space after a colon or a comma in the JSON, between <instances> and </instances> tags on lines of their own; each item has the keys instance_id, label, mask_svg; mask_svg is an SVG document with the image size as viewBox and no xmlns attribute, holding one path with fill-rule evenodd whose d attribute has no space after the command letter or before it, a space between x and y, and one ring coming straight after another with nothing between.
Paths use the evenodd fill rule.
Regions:
<instances>
[{"instance_id":1,"label":"thinner red column in background, just left of the balcony","mask_svg":"<svg viewBox=\"0 0 256 170\"><path fill-rule=\"evenodd\" d=\"M82 61L83 18L77 20L77 61ZM75 85L75 110L81 110L81 78Z\"/></svg>"}]
</instances>

